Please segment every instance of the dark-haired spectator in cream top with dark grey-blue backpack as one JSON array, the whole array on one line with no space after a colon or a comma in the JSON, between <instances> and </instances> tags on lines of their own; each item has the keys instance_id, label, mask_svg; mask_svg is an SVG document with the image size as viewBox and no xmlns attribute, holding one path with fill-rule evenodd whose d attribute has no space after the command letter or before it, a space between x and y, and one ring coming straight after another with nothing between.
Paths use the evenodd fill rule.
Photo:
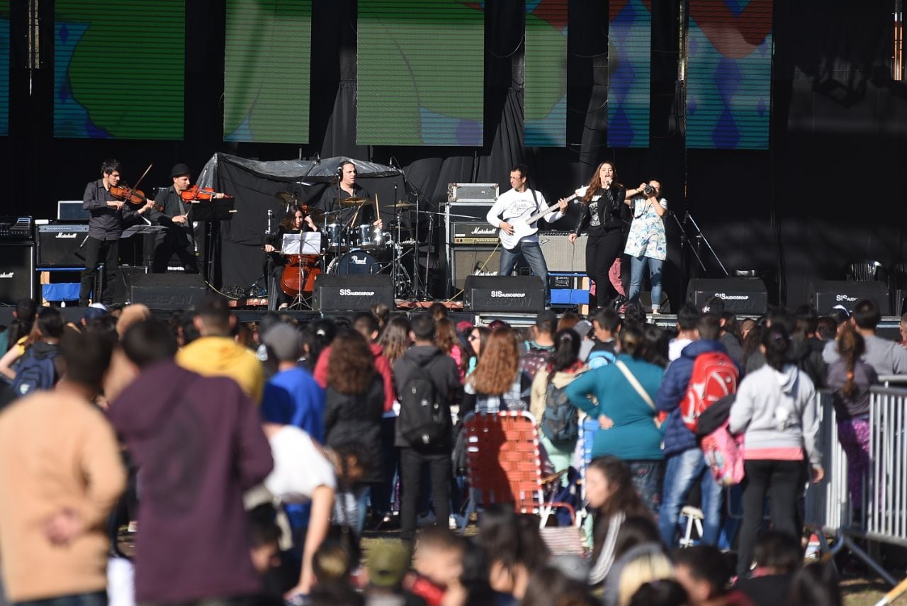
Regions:
<instances>
[{"instance_id":1,"label":"dark-haired spectator in cream top with dark grey-blue backpack","mask_svg":"<svg viewBox=\"0 0 907 606\"><path fill-rule=\"evenodd\" d=\"M579 413L565 392L586 370L579 353L580 335L572 328L559 330L550 361L532 380L530 412L539 426L539 442L556 472L570 467L579 435Z\"/></svg>"}]
</instances>

